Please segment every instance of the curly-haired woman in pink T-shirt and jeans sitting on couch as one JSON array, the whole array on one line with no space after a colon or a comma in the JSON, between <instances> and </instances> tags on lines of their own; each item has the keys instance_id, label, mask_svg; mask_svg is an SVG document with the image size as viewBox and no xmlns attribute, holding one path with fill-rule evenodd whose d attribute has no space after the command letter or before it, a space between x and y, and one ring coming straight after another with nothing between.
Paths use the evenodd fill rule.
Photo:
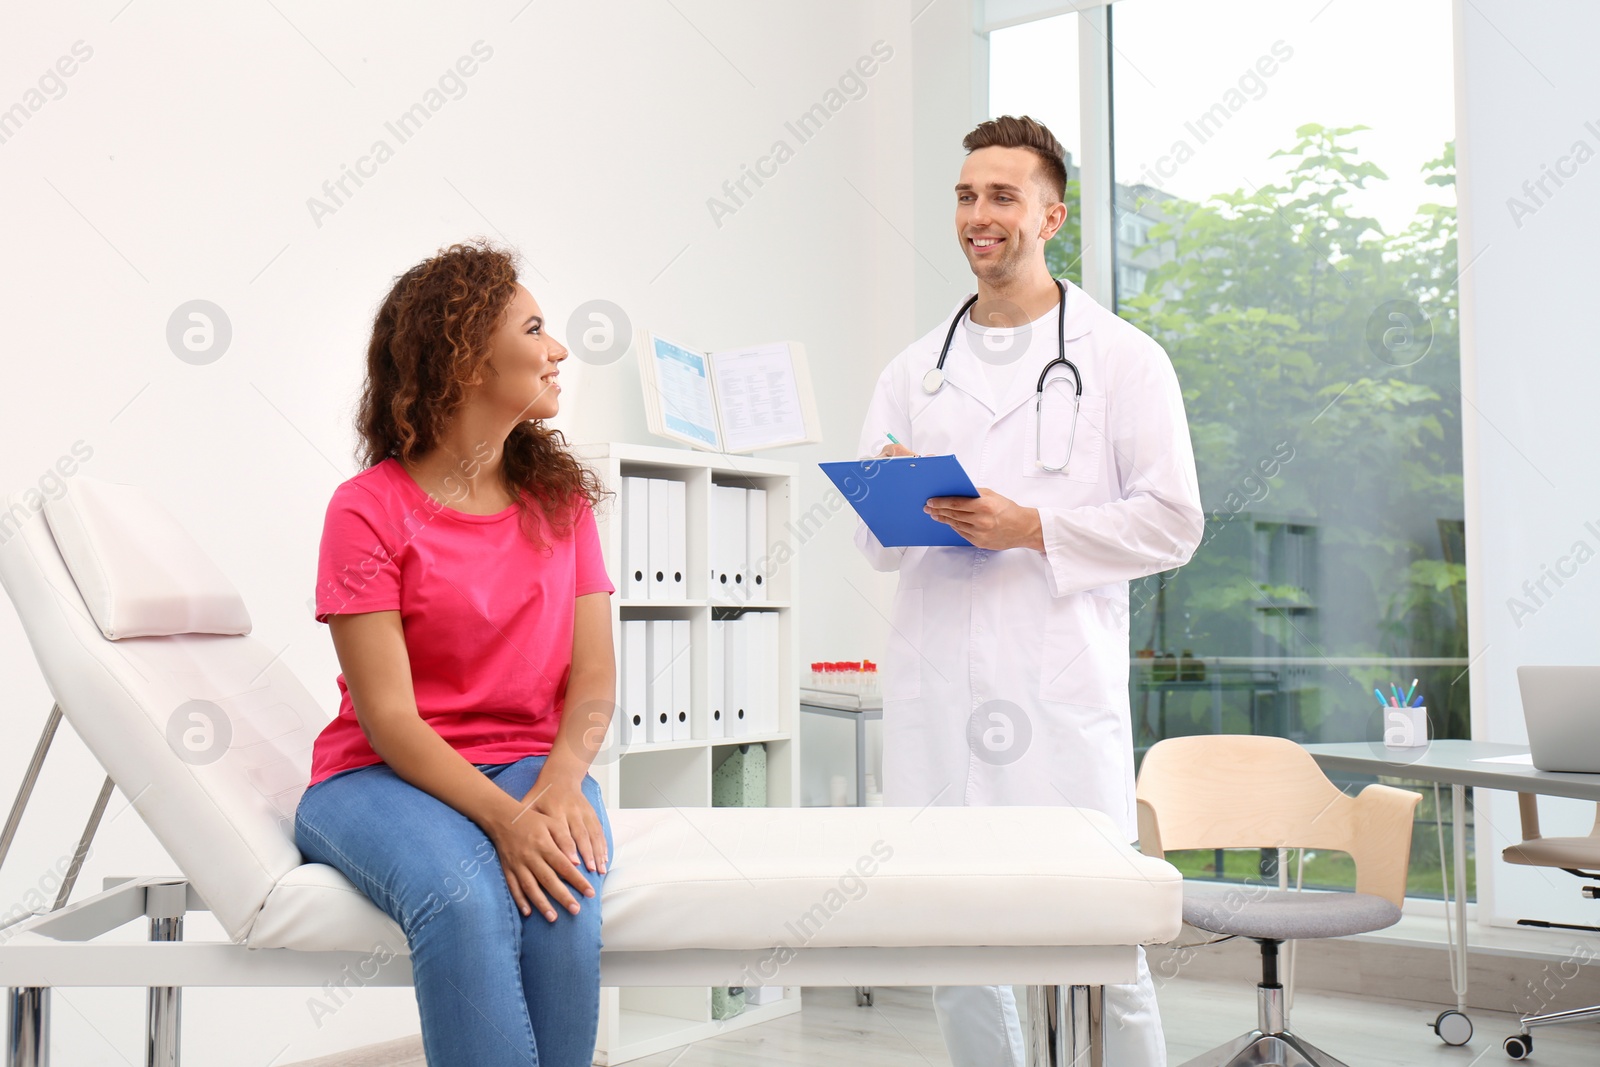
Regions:
<instances>
[{"instance_id":1,"label":"curly-haired woman in pink T-shirt and jeans sitting on couch","mask_svg":"<svg viewBox=\"0 0 1600 1067\"><path fill-rule=\"evenodd\" d=\"M594 1054L614 589L598 478L542 426L565 358L510 254L406 270L366 352L365 470L322 533L339 715L294 840L405 931L432 1067Z\"/></svg>"}]
</instances>

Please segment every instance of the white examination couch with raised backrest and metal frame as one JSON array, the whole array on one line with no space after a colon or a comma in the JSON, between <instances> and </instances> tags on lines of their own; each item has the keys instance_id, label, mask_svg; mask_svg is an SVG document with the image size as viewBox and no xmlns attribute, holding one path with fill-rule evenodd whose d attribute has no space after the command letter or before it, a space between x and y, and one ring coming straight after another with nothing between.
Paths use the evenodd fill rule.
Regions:
<instances>
[{"instance_id":1,"label":"white examination couch with raised backrest and metal frame","mask_svg":"<svg viewBox=\"0 0 1600 1067\"><path fill-rule=\"evenodd\" d=\"M178 1064L186 985L320 987L354 969L408 985L398 926L294 848L326 712L248 635L221 569L134 486L80 477L43 507L19 494L8 509L0 582L54 697L10 829L64 717L107 773L78 854L115 785L178 867L106 878L75 902L64 893L0 931L8 1067L48 1062L54 985L147 987L147 1062L162 1067ZM13 737L37 728L5 713ZM1182 921L1178 870L1096 811L610 814L605 985L1022 984L1032 1062L1099 1064L1099 987L1133 981L1136 945L1171 941ZM830 891L851 870L866 889L840 902ZM210 910L229 941L184 941L190 910ZM134 920L150 941L101 937Z\"/></svg>"}]
</instances>

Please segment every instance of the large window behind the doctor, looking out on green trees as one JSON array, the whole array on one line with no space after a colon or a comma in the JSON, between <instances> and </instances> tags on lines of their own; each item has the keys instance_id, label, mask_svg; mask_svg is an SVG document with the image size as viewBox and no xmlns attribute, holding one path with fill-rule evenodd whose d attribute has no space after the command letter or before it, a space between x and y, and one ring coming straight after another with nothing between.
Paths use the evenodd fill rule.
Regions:
<instances>
[{"instance_id":1,"label":"large window behind the doctor, looking out on green trees","mask_svg":"<svg viewBox=\"0 0 1600 1067\"><path fill-rule=\"evenodd\" d=\"M990 35L992 114L1077 88L1075 42L1032 96L1013 69L1010 37L1058 24L1099 32ZM1413 678L1469 736L1448 0L1122 0L1104 40L1110 130L1075 141L1114 146L1101 296L1173 358L1208 515L1187 566L1131 582L1136 747L1378 741L1374 686ZM1438 894L1424 795L1411 889Z\"/></svg>"}]
</instances>

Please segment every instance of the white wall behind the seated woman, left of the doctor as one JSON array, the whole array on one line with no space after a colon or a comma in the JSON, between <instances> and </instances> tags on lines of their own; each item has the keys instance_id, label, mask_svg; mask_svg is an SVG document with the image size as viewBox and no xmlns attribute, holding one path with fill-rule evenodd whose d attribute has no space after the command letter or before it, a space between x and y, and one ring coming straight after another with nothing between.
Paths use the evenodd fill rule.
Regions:
<instances>
[{"instance_id":1,"label":"white wall behind the seated woman, left of the doctor","mask_svg":"<svg viewBox=\"0 0 1600 1067\"><path fill-rule=\"evenodd\" d=\"M51 488L78 442L91 450L82 474L154 490L331 715L338 665L307 598L323 507L355 474L371 312L394 275L483 234L525 253L525 282L558 334L602 298L709 349L803 341L826 442L778 458L805 470L802 510L826 502L814 462L853 454L878 370L930 325L902 237L920 232L912 101L915 86L965 85L949 59L970 59L971 16L939 3L914 26L923 5L13 6L0 109L29 114L0 142L0 490ZM784 122L877 40L894 54L866 94L795 144ZM46 80L26 96L77 42L90 54L64 88ZM475 42L493 53L464 93L398 144L384 123ZM318 226L307 198L378 138L394 157ZM779 138L794 158L718 227L707 198ZM165 339L173 310L197 298L232 325L205 366ZM568 382L560 424L574 440L648 440L632 357L573 368ZM805 659L882 651L890 582L859 561L851 526L845 509L800 557ZM50 707L10 609L0 677L10 797ZM99 777L62 731L0 872L0 910L48 885ZM106 875L174 870L120 793L110 816L78 896ZM192 920L190 936L203 933ZM322 1027L307 995L190 990L186 1054L254 1067L416 1029L410 990L362 990ZM58 1059L139 1062L141 1011L138 992L58 990Z\"/></svg>"}]
</instances>

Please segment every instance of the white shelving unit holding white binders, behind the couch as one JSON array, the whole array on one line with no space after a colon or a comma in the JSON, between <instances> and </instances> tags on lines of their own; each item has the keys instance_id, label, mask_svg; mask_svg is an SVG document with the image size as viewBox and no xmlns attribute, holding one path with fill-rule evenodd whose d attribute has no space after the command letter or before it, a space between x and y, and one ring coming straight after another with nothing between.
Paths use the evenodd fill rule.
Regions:
<instances>
[{"instance_id":1,"label":"white shelving unit holding white binders, behind the couch","mask_svg":"<svg viewBox=\"0 0 1600 1067\"><path fill-rule=\"evenodd\" d=\"M741 744L766 745L766 803L797 806L800 803L800 675L792 597L797 589L794 560L779 565L770 560L766 571L768 600L731 601L712 598L707 544L712 523L712 485L736 485L766 490L766 539L773 545L786 542L784 530L798 520L794 493L795 464L725 456L650 445L600 443L573 450L600 475L616 496L595 509L600 545L606 573L618 592L622 590L622 478L675 478L685 483L688 515L688 597L685 600L611 598L613 641L621 656L622 619L688 619L691 630L691 734L690 741L654 744L618 744L618 717L611 736L595 760L592 773L600 782L606 803L613 808L707 808L710 806L712 771ZM742 737L710 737L710 633L712 613L725 608L773 611L779 616L779 712L776 733ZM618 664L621 681L621 664ZM618 699L624 688L618 685ZM742 1029L768 1019L800 1011L800 987L786 985L782 1000L746 1008L731 1019L710 1016L710 989L602 989L600 1030L595 1064L624 1064L642 1056L699 1041L717 1033Z\"/></svg>"}]
</instances>

